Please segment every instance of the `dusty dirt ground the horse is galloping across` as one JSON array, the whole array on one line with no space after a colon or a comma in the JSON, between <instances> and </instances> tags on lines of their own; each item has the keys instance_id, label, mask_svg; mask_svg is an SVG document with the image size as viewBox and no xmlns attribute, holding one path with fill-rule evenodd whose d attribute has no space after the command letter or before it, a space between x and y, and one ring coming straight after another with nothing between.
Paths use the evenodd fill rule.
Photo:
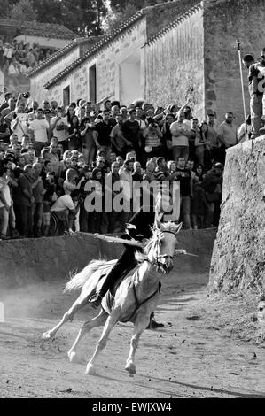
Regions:
<instances>
[{"instance_id":1,"label":"dusty dirt ground the horse is galloping across","mask_svg":"<svg viewBox=\"0 0 265 416\"><path fill-rule=\"evenodd\" d=\"M207 293L207 275L170 273L163 282L156 319L136 353L136 375L124 370L132 324L118 324L102 352L97 375L84 374L101 328L80 346L73 363L66 352L90 307L42 341L77 294L62 293L64 281L1 292L0 397L265 397L265 341L253 297Z\"/></svg>"}]
</instances>

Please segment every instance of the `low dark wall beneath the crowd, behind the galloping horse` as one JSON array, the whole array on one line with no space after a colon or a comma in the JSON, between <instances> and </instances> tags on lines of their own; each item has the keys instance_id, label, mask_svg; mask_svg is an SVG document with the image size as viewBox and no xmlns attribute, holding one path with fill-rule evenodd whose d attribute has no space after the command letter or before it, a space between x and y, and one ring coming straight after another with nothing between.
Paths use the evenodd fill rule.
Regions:
<instances>
[{"instance_id":1,"label":"low dark wall beneath the crowd, behind the galloping horse","mask_svg":"<svg viewBox=\"0 0 265 416\"><path fill-rule=\"evenodd\" d=\"M199 258L178 257L177 273L207 273L215 230L182 231L179 247ZM105 243L89 234L0 241L1 288L26 286L37 281L66 281L93 258L119 258L121 244Z\"/></svg>"}]
</instances>

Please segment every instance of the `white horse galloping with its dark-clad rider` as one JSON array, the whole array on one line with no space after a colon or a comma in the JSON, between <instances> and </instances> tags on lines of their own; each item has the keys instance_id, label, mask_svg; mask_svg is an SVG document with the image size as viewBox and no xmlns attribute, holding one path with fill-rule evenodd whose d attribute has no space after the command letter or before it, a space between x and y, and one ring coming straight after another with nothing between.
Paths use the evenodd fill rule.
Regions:
<instances>
[{"instance_id":1,"label":"white horse galloping with its dark-clad rider","mask_svg":"<svg viewBox=\"0 0 265 416\"><path fill-rule=\"evenodd\" d=\"M175 253L185 254L184 250L175 250L176 234L180 228L181 224L176 225L169 221L167 223L157 222L156 227L152 229L152 238L144 243L144 254L136 253L136 259L140 263L139 266L121 281L114 294L112 306L109 306L108 294L106 294L99 314L83 324L74 345L68 351L70 361L75 356L76 346L82 336L93 327L105 325L97 342L96 351L87 365L86 374L96 374L96 358L99 352L105 348L108 335L118 321L134 323L129 358L125 369L130 374L136 374L136 349L140 335L149 323L150 314L155 310L159 301L160 276L172 270ZM82 289L81 295L65 313L58 325L43 334L43 339L50 339L67 320L73 320L74 313L88 303L88 299L103 283L105 278L102 276L110 271L116 261L92 260L82 272L77 273L66 284L66 290Z\"/></svg>"}]
</instances>

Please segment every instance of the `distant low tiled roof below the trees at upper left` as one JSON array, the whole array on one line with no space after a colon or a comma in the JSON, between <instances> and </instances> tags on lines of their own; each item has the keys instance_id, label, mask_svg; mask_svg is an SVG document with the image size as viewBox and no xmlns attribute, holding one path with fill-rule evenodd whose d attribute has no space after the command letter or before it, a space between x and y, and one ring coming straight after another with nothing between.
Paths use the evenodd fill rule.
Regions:
<instances>
[{"instance_id":1,"label":"distant low tiled roof below the trees at upper left","mask_svg":"<svg viewBox=\"0 0 265 416\"><path fill-rule=\"evenodd\" d=\"M0 19L0 26L2 27L19 27L19 21L14 19ZM74 34L72 30L57 23L39 23L35 21L26 21L19 29L21 35L41 36L46 38L66 39L71 40L78 35Z\"/></svg>"}]
</instances>

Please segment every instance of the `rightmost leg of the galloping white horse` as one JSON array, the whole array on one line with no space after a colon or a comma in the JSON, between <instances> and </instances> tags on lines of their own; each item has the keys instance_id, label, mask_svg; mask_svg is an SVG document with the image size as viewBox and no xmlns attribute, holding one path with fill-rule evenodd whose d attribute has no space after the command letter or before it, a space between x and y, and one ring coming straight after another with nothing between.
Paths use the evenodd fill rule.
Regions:
<instances>
[{"instance_id":1,"label":"rightmost leg of the galloping white horse","mask_svg":"<svg viewBox=\"0 0 265 416\"><path fill-rule=\"evenodd\" d=\"M129 349L129 357L126 361L125 370L129 372L129 374L136 374L136 364L135 364L135 356L136 356L136 349L139 344L139 338L144 332L144 329L147 327L150 318L150 313L138 316L136 318L134 332L130 340L130 349Z\"/></svg>"}]
</instances>

